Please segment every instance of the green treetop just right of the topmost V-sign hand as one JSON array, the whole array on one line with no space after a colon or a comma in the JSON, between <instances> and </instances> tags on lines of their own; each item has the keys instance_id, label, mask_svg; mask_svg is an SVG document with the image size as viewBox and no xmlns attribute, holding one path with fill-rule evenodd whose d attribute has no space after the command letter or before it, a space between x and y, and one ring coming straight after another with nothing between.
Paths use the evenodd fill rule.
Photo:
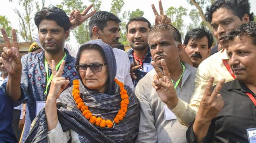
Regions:
<instances>
[{"instance_id":1,"label":"green treetop just right of the topmost V-sign hand","mask_svg":"<svg viewBox=\"0 0 256 143\"><path fill-rule=\"evenodd\" d=\"M168 17L171 17L172 25L174 25L174 27L179 30L181 36L183 37L183 29L185 27L183 17L187 16L187 8L184 8L182 6L180 6L179 8L175 8L171 6L167 9L167 11L165 11L165 13Z\"/></svg>"}]
</instances>

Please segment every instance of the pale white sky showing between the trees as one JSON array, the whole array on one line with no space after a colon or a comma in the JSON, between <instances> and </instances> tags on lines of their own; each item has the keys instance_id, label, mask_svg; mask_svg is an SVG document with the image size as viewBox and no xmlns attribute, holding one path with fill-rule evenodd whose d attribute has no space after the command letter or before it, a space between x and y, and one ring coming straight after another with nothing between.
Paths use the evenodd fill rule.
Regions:
<instances>
[{"instance_id":1,"label":"pale white sky showing between the trees","mask_svg":"<svg viewBox=\"0 0 256 143\"><path fill-rule=\"evenodd\" d=\"M13 0L13 2L9 2L9 0L1 0L1 5L2 7L0 8L0 15L4 15L8 18L8 20L11 22L11 26L14 29L19 30L19 19L17 15L14 13L14 9L21 9L22 6L20 6L17 2L18 0ZM34 1L39 1L39 4L41 4L41 0L34 0ZM101 4L101 10L102 11L110 11L111 8L111 1L112 0L102 0ZM178 2L177 2L178 1ZM50 4L56 5L56 4L61 4L62 0L45 0L45 6L48 6ZM89 5L88 0L82 0L84 5ZM251 12L254 12L256 14L256 0L249 0L251 3ZM143 17L148 19L152 24L154 23L154 13L151 8L151 4L154 4L156 6L156 9L158 10L159 13L159 8L158 8L158 0L124 0L124 6L122 8L122 12L124 11L135 11L137 8L139 8L141 11L144 11ZM162 0L163 4L163 9L166 11L169 7L174 6L174 7L179 7L183 6L188 9L188 14L189 11L192 8L195 8L194 6L191 6L188 4L187 0ZM36 11L36 8L35 8ZM121 14L119 15L121 17ZM189 17L184 17L184 23L189 24L191 22L191 19ZM22 41L21 38L19 38L20 41ZM75 41L74 36L70 37L70 41Z\"/></svg>"}]
</instances>

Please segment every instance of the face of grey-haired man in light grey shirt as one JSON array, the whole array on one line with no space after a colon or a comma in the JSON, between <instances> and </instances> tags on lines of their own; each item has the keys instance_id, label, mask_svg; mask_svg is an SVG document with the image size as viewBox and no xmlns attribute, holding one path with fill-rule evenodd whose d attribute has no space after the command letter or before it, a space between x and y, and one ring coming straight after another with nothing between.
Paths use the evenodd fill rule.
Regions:
<instances>
[{"instance_id":1,"label":"face of grey-haired man in light grey shirt","mask_svg":"<svg viewBox=\"0 0 256 143\"><path fill-rule=\"evenodd\" d=\"M161 30L151 34L148 38L152 59L161 67L161 59L165 59L167 65L180 61L181 45L176 46L171 32Z\"/></svg>"}]
</instances>

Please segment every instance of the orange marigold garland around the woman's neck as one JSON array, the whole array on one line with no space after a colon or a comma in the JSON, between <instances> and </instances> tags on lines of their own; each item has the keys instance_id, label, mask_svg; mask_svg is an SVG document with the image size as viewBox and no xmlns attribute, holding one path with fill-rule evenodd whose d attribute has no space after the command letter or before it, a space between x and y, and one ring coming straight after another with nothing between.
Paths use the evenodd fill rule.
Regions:
<instances>
[{"instance_id":1,"label":"orange marigold garland around the woman's neck","mask_svg":"<svg viewBox=\"0 0 256 143\"><path fill-rule=\"evenodd\" d=\"M127 107L129 104L129 96L127 95L127 91L124 89L124 84L120 81L118 81L115 78L115 82L120 87L120 95L121 95L121 105L120 109L117 112L117 115L115 116L114 120L105 120L100 117L93 116L91 111L88 109L88 107L85 105L85 103L82 101L82 98L80 97L80 91L79 91L79 80L73 80L74 88L72 90L72 95L76 101L77 108L82 111L82 115L85 116L89 120L91 124L95 124L96 126L100 126L101 128L108 127L112 128L114 123L117 124L121 120L123 120L124 116L126 115Z\"/></svg>"}]
</instances>

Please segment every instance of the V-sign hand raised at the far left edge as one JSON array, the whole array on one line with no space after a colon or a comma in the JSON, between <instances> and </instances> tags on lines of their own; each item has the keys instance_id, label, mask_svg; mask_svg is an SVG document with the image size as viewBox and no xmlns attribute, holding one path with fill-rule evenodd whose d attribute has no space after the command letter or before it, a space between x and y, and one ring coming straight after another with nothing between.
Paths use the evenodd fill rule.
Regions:
<instances>
[{"instance_id":1,"label":"V-sign hand raised at the far left edge","mask_svg":"<svg viewBox=\"0 0 256 143\"><path fill-rule=\"evenodd\" d=\"M20 61L20 52L18 48L17 34L15 29L12 29L13 46L9 41L7 33L4 28L0 28L4 37L6 47L3 48L2 58L4 67L7 69L11 76L21 76L22 64Z\"/></svg>"}]
</instances>

